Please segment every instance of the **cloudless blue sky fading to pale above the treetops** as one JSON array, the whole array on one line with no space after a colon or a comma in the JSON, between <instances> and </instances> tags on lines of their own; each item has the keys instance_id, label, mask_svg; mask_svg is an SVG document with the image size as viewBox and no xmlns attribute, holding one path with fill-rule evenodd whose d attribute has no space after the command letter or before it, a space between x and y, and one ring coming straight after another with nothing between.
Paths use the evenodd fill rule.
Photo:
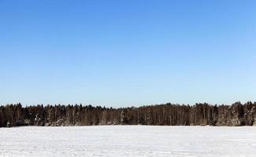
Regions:
<instances>
[{"instance_id":1,"label":"cloudless blue sky fading to pale above the treetops","mask_svg":"<svg viewBox=\"0 0 256 157\"><path fill-rule=\"evenodd\" d=\"M256 1L0 0L0 104L256 100Z\"/></svg>"}]
</instances>

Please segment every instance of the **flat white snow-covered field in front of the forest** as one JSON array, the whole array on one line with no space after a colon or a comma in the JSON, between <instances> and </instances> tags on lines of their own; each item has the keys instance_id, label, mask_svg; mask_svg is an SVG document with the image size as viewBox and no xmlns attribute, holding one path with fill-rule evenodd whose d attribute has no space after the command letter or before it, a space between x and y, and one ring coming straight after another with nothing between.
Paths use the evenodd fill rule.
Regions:
<instances>
[{"instance_id":1,"label":"flat white snow-covered field in front of the forest","mask_svg":"<svg viewBox=\"0 0 256 157\"><path fill-rule=\"evenodd\" d=\"M0 156L256 156L256 127L0 128Z\"/></svg>"}]
</instances>

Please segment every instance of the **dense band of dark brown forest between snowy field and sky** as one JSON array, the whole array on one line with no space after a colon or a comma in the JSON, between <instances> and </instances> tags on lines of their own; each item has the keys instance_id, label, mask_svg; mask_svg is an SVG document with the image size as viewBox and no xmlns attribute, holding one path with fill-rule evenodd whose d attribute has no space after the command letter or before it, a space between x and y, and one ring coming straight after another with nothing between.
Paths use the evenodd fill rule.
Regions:
<instances>
[{"instance_id":1,"label":"dense band of dark brown forest between snowy field and sky","mask_svg":"<svg viewBox=\"0 0 256 157\"><path fill-rule=\"evenodd\" d=\"M157 104L139 108L91 105L37 105L0 107L0 127L12 126L256 126L256 102L232 105Z\"/></svg>"}]
</instances>

